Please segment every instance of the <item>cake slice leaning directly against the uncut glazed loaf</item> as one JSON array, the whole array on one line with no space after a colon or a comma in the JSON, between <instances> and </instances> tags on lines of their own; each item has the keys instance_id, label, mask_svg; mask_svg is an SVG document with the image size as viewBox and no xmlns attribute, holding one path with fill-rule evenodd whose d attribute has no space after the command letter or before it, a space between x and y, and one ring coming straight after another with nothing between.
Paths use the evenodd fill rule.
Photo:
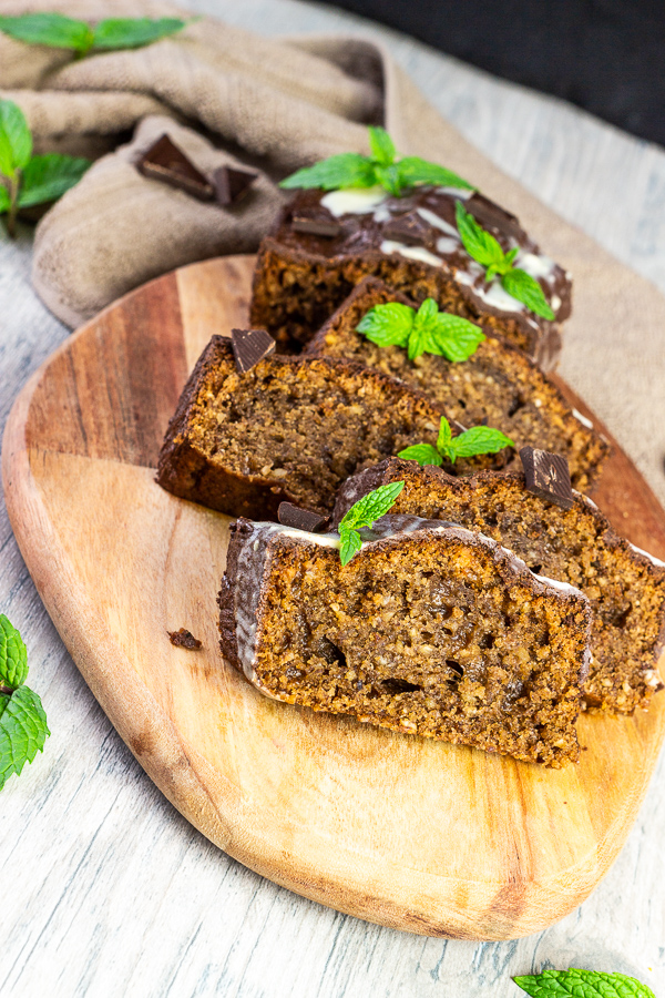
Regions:
<instances>
[{"instance_id":1,"label":"cake slice leaning directly against the uncut glazed loaf","mask_svg":"<svg viewBox=\"0 0 665 998\"><path fill-rule=\"evenodd\" d=\"M561 454L569 461L573 485L589 490L607 455L607 444L575 417L559 388L522 350L484 326L487 339L462 363L430 353L409 360L406 348L380 347L356 332L371 308L389 302L416 307L410 298L366 277L305 354L365 364L424 393L463 426L487 422L518 448L531 445Z\"/></svg>"}]
</instances>

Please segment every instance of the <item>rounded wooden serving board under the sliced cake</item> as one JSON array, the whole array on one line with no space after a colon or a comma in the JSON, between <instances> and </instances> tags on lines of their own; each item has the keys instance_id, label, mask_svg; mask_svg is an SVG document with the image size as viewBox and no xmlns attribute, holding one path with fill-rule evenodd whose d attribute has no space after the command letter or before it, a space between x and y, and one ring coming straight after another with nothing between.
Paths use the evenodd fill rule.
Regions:
<instances>
[{"instance_id":1,"label":"rounded wooden serving board under the sliced cake","mask_svg":"<svg viewBox=\"0 0 665 998\"><path fill-rule=\"evenodd\" d=\"M2 455L28 568L120 735L222 849L298 894L413 933L542 929L621 849L663 741L665 694L634 717L581 717L581 762L555 771L276 703L224 662L215 597L229 519L163 491L153 469L202 348L247 323L253 264L227 257L161 277L30 379ZM665 557L665 515L618 449L596 499ZM172 646L166 632L181 627L201 651Z\"/></svg>"}]
</instances>

